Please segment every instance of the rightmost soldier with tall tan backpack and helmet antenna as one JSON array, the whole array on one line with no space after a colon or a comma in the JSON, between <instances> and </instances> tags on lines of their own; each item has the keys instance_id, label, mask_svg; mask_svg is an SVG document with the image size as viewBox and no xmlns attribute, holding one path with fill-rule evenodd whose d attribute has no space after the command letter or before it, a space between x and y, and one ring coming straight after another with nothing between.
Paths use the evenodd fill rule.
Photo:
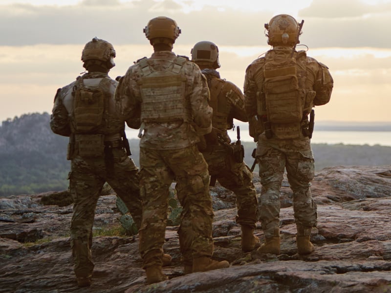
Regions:
<instances>
[{"instance_id":1,"label":"rightmost soldier with tall tan backpack and helmet antenna","mask_svg":"<svg viewBox=\"0 0 391 293\"><path fill-rule=\"evenodd\" d=\"M246 69L245 106L250 135L258 142L262 184L260 218L265 243L258 249L261 253L280 253L280 188L285 168L293 191L297 251L314 251L310 242L311 228L317 225L310 191L312 108L329 102L333 79L326 65L296 51L303 23L286 14L273 17L265 24L272 49Z\"/></svg>"}]
</instances>

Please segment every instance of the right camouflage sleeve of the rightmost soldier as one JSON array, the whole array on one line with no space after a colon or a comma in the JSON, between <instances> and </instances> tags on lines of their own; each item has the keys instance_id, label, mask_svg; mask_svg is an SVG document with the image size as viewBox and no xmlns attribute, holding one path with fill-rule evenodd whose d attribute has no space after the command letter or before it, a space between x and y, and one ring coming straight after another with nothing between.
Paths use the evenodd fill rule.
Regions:
<instances>
[{"instance_id":1,"label":"right camouflage sleeve of the rightmost soldier","mask_svg":"<svg viewBox=\"0 0 391 293\"><path fill-rule=\"evenodd\" d=\"M314 90L316 92L314 105L325 105L330 101L331 91L333 89L333 78L328 67L323 63L318 63L319 70L316 75Z\"/></svg>"}]
</instances>

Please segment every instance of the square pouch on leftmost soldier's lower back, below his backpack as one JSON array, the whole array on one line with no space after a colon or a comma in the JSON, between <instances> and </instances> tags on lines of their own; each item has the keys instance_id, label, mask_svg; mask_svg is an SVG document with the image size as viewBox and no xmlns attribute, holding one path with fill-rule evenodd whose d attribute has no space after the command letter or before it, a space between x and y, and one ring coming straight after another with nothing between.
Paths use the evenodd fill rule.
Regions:
<instances>
[{"instance_id":1,"label":"square pouch on leftmost soldier's lower back, below his backpack","mask_svg":"<svg viewBox=\"0 0 391 293\"><path fill-rule=\"evenodd\" d=\"M83 158L96 158L104 155L105 135L76 134L75 136L79 156Z\"/></svg>"}]
</instances>

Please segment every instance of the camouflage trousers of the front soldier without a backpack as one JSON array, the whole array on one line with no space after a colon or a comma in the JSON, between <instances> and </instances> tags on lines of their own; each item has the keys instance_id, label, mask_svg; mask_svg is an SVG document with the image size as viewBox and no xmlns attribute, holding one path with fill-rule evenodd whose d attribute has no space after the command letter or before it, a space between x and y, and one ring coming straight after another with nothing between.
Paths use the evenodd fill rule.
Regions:
<instances>
[{"instance_id":1,"label":"camouflage trousers of the front soldier without a backpack","mask_svg":"<svg viewBox=\"0 0 391 293\"><path fill-rule=\"evenodd\" d=\"M178 230L185 263L213 253L212 198L208 166L196 146L175 150L140 147L140 194L143 219L139 251L143 268L162 264L167 224L169 188L176 180L178 200L183 208Z\"/></svg>"}]
</instances>

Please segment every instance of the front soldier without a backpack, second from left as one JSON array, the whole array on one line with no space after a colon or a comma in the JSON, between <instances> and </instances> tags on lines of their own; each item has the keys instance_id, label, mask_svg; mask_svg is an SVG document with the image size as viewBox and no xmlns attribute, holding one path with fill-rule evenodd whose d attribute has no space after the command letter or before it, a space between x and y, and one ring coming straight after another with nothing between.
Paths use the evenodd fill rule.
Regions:
<instances>
[{"instance_id":1,"label":"front soldier without a backpack, second from left","mask_svg":"<svg viewBox=\"0 0 391 293\"><path fill-rule=\"evenodd\" d=\"M212 260L212 198L208 166L198 151L198 136L211 131L209 91L198 66L175 56L173 44L180 34L176 22L157 17L144 33L153 46L151 58L130 66L115 92L118 112L141 123L140 189L143 219L139 250L147 282L167 279L162 253L167 222L169 188L176 179L183 207L178 230L186 272L229 266Z\"/></svg>"}]
</instances>

